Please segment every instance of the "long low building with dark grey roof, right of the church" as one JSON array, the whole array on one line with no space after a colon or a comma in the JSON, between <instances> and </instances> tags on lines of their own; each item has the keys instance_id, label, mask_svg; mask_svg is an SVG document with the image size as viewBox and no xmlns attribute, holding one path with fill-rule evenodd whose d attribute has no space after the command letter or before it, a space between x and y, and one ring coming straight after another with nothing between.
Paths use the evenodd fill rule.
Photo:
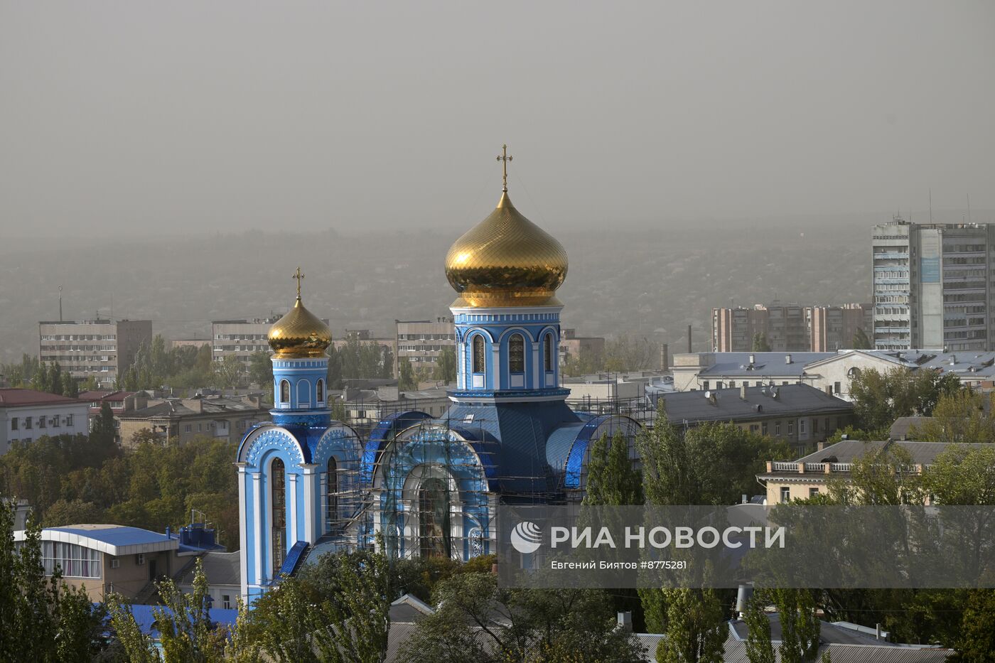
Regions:
<instances>
[{"instance_id":1,"label":"long low building with dark grey roof, right of the church","mask_svg":"<svg viewBox=\"0 0 995 663\"><path fill-rule=\"evenodd\" d=\"M731 422L751 433L783 440L799 453L815 449L854 421L853 403L807 384L671 391L657 398L663 400L672 423Z\"/></svg>"}]
</instances>

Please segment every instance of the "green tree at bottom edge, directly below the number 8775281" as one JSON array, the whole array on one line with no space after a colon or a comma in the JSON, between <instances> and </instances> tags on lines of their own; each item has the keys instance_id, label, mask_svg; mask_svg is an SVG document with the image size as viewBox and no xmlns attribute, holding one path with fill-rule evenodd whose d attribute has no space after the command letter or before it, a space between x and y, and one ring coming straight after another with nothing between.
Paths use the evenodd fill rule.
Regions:
<instances>
[{"instance_id":1,"label":"green tree at bottom edge, directly below the number 8775281","mask_svg":"<svg viewBox=\"0 0 995 663\"><path fill-rule=\"evenodd\" d=\"M667 637L657 646L660 663L721 663L725 616L712 589L664 589Z\"/></svg>"}]
</instances>

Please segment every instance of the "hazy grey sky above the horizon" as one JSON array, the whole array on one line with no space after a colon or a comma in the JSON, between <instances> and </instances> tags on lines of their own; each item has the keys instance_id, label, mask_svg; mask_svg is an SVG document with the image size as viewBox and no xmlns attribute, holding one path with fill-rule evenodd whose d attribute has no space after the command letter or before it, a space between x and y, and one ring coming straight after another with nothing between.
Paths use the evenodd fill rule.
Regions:
<instances>
[{"instance_id":1,"label":"hazy grey sky above the horizon","mask_svg":"<svg viewBox=\"0 0 995 663\"><path fill-rule=\"evenodd\" d=\"M995 209L993 118L990 0L0 0L0 238Z\"/></svg>"}]
</instances>

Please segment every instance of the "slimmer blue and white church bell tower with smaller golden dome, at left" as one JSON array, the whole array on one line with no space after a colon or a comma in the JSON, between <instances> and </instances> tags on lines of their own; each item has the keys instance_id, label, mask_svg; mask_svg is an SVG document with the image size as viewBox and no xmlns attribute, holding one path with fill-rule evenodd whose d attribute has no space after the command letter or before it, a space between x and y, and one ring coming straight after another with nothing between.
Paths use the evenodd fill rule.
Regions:
<instances>
[{"instance_id":1,"label":"slimmer blue and white church bell tower with smaller golden dome, at left","mask_svg":"<svg viewBox=\"0 0 995 663\"><path fill-rule=\"evenodd\" d=\"M304 308L270 330L274 350L272 420L246 434L238 451L242 593L251 602L281 574L293 574L319 538L354 516L361 444L331 421L326 380L331 332ZM353 468L352 472L343 471Z\"/></svg>"}]
</instances>

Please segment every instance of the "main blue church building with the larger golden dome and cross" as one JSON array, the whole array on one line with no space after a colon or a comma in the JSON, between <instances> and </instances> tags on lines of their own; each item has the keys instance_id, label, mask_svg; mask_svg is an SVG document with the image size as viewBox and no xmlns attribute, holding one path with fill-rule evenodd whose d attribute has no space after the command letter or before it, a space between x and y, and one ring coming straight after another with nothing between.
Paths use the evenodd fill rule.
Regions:
<instances>
[{"instance_id":1,"label":"main blue church building with the larger golden dome and cross","mask_svg":"<svg viewBox=\"0 0 995 663\"><path fill-rule=\"evenodd\" d=\"M446 256L457 384L447 414L405 412L366 442L363 476L392 555L469 559L494 552L498 504L555 504L583 494L588 443L638 424L572 411L560 386L560 311L567 273L559 242L507 193L506 146L497 157L497 208Z\"/></svg>"}]
</instances>

